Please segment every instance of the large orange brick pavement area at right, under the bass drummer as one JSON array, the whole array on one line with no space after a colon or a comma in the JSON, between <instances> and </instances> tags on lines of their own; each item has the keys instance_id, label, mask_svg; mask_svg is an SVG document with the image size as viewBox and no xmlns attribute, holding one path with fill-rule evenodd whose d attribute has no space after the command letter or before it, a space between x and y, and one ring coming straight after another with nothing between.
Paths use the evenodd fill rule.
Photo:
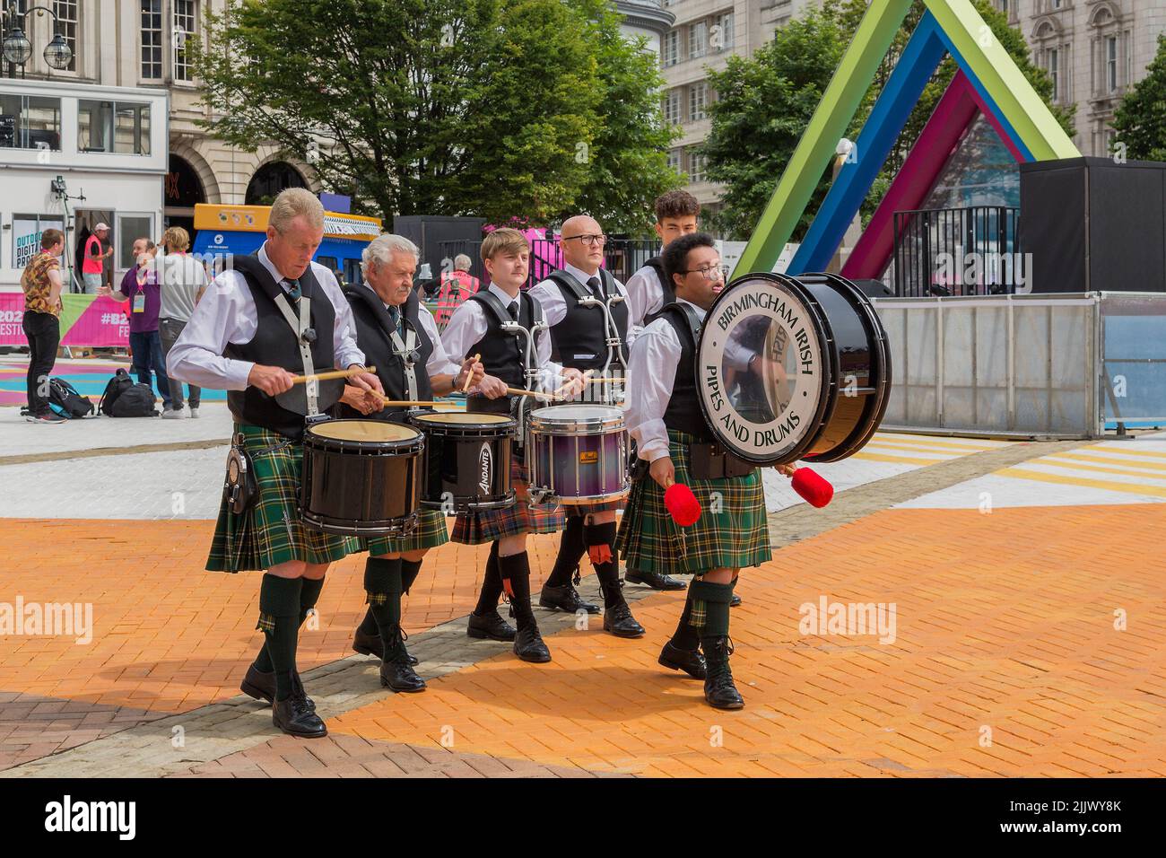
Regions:
<instances>
[{"instance_id":1,"label":"large orange brick pavement area at right, under the bass drummer","mask_svg":"<svg viewBox=\"0 0 1166 858\"><path fill-rule=\"evenodd\" d=\"M743 711L655 664L662 593L646 639L563 632L549 665L497 656L329 730L645 775L1166 776L1164 544L1147 505L885 510L744 573ZM897 640L800 635L822 594L895 602Z\"/></svg>"}]
</instances>

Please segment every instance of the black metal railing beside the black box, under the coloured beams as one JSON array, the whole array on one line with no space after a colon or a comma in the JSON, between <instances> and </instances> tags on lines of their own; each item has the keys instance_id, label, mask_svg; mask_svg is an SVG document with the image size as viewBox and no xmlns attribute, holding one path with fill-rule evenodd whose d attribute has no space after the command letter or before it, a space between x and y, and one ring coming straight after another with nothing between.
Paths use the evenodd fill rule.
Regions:
<instances>
[{"instance_id":1,"label":"black metal railing beside the black box, under the coloured beams","mask_svg":"<svg viewBox=\"0 0 1166 858\"><path fill-rule=\"evenodd\" d=\"M1003 205L894 212L894 291L902 298L1027 292L1020 210Z\"/></svg>"}]
</instances>

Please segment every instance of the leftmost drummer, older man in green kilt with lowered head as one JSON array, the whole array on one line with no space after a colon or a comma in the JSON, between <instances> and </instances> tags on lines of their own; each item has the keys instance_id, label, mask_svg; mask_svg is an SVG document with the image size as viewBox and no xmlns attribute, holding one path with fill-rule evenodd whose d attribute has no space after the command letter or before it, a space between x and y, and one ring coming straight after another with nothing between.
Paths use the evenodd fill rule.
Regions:
<instances>
[{"instance_id":1,"label":"leftmost drummer, older man in green kilt with lowered head","mask_svg":"<svg viewBox=\"0 0 1166 858\"><path fill-rule=\"evenodd\" d=\"M300 626L333 560L358 550L353 539L305 528L298 495L307 417L336 404L343 384L309 390L293 376L352 369L349 383L382 391L364 369L352 311L336 277L314 263L324 237L324 207L310 191L289 188L272 204L267 240L234 257L194 307L167 360L178 382L227 391L236 446L250 458L255 496L219 507L206 568L264 571L258 629L265 643L240 688L272 703L285 733L326 735L316 704L296 671ZM290 392L295 386L295 392Z\"/></svg>"}]
</instances>

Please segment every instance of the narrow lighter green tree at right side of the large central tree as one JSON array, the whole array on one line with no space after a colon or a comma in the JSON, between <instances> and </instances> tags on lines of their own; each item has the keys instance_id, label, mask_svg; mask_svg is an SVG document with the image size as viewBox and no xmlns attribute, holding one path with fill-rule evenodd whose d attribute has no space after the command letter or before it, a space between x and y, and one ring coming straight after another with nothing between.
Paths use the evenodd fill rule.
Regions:
<instances>
[{"instance_id":1,"label":"narrow lighter green tree at right side of the large central tree","mask_svg":"<svg viewBox=\"0 0 1166 858\"><path fill-rule=\"evenodd\" d=\"M576 0L589 20L586 40L598 51L599 125L590 147L580 148L586 181L563 216L586 211L607 232L649 232L652 202L683 180L668 166L667 153L680 128L667 125L660 109L659 56L620 32L621 15L609 0Z\"/></svg>"}]
</instances>

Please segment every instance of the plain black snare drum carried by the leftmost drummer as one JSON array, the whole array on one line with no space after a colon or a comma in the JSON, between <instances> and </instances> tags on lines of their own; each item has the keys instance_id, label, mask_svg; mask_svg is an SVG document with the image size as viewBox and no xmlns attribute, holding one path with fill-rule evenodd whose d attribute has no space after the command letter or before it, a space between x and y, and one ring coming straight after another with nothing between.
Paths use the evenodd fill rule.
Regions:
<instances>
[{"instance_id":1,"label":"plain black snare drum carried by the leftmost drummer","mask_svg":"<svg viewBox=\"0 0 1166 858\"><path fill-rule=\"evenodd\" d=\"M303 433L300 517L342 536L405 536L417 525L424 438L385 420L328 420Z\"/></svg>"}]
</instances>

